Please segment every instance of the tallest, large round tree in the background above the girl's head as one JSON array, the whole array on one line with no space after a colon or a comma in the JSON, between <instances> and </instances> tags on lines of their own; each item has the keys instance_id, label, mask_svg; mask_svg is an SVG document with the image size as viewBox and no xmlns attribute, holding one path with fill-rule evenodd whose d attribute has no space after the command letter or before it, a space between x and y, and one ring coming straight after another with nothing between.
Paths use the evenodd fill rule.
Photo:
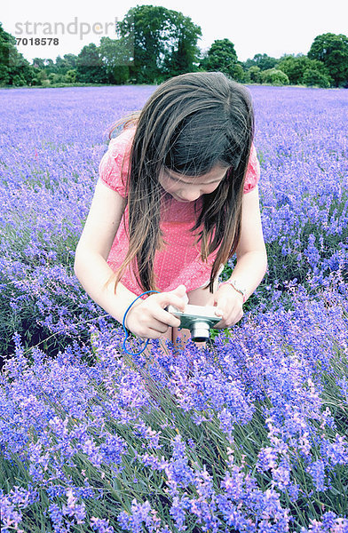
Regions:
<instances>
[{"instance_id":1,"label":"tallest, large round tree in the background above the girl's head","mask_svg":"<svg viewBox=\"0 0 348 533\"><path fill-rule=\"evenodd\" d=\"M182 13L162 6L137 5L118 23L119 36L134 49L130 77L154 84L163 77L194 69L199 26Z\"/></svg>"}]
</instances>

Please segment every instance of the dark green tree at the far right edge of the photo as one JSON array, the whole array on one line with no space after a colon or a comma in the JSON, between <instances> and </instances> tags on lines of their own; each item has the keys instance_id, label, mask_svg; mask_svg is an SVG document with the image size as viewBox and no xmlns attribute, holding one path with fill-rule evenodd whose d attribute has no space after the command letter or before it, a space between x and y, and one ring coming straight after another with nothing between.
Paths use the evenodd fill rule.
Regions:
<instances>
[{"instance_id":1,"label":"dark green tree at the far right edge of the photo","mask_svg":"<svg viewBox=\"0 0 348 533\"><path fill-rule=\"evenodd\" d=\"M347 36L332 33L316 36L308 52L308 58L324 63L336 87L348 85Z\"/></svg>"}]
</instances>

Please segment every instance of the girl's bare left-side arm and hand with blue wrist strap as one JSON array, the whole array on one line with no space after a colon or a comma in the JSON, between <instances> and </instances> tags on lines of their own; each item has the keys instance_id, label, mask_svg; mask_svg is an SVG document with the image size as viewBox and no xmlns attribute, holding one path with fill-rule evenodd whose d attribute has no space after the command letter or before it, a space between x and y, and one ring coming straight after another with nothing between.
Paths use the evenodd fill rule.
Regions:
<instances>
[{"instance_id":1,"label":"girl's bare left-side arm and hand with blue wrist strap","mask_svg":"<svg viewBox=\"0 0 348 533\"><path fill-rule=\"evenodd\" d=\"M123 322L127 307L138 294L134 294L120 282L117 284L115 294L113 284L105 287L105 283L113 274L107 265L107 257L114 243L126 202L122 195L107 187L99 179L83 233L76 247L74 265L75 275L83 289L120 323ZM164 311L164 307L171 304L183 309L181 293L182 295L185 293L183 288L177 292L150 295L146 300L139 298L127 314L127 327L144 338L159 338L168 330L168 326L178 327L180 321L173 314Z\"/></svg>"}]
</instances>

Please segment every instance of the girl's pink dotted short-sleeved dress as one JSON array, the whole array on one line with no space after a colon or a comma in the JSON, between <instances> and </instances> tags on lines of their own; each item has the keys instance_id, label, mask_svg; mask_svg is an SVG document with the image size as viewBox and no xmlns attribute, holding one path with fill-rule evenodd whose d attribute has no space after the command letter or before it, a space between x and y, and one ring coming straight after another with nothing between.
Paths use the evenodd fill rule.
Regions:
<instances>
[{"instance_id":1,"label":"girl's pink dotted short-sleeved dress","mask_svg":"<svg viewBox=\"0 0 348 533\"><path fill-rule=\"evenodd\" d=\"M114 191L126 197L126 175L129 167L130 146L135 132L134 127L122 131L120 135L111 139L106 154L99 163L100 179ZM123 163L123 175L121 169ZM248 171L245 179L244 193L249 193L257 186L260 177L260 167L257 161L257 152L252 146ZM202 198L196 200L202 205ZM156 251L154 256L154 274L157 290L174 290L178 285L186 285L187 292L206 285L210 280L210 271L218 251L210 254L206 263L202 262L200 244L196 245L195 235L189 231L194 226L196 215L194 202L181 203L168 195L164 209L161 211L161 228L163 238L168 243L161 251ZM128 206L123 217L128 220ZM114 243L107 258L107 264L116 270L123 263L128 251L129 241L123 227L123 219L115 235ZM223 267L223 266L221 266ZM138 286L135 275L127 267L121 279L123 285L135 295L143 290ZM147 296L147 295L146 295ZM143 298L146 298L143 297Z\"/></svg>"}]
</instances>

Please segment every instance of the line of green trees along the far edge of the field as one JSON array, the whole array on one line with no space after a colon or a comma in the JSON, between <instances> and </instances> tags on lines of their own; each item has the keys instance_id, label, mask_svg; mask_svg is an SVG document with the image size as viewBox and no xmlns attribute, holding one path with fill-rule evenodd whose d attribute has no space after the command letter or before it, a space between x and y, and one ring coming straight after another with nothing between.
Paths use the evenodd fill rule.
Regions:
<instances>
[{"instance_id":1,"label":"line of green trees along the far edge of the field","mask_svg":"<svg viewBox=\"0 0 348 533\"><path fill-rule=\"evenodd\" d=\"M30 64L0 22L0 86L160 84L185 72L219 70L243 84L348 88L348 37L343 34L316 36L307 54L276 59L257 53L240 61L227 38L202 52L197 45L202 29L162 6L131 8L116 29L116 38L101 37L98 46L85 45L78 55L36 58Z\"/></svg>"}]
</instances>

